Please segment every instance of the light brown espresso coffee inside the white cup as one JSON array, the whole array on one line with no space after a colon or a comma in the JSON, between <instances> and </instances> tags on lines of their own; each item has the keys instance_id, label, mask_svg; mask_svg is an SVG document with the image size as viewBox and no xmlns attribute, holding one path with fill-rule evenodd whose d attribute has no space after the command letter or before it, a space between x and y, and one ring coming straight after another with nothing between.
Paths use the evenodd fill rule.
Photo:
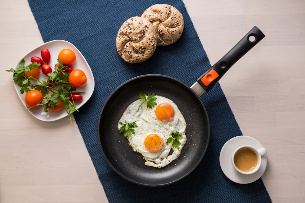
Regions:
<instances>
[{"instance_id":1,"label":"light brown espresso coffee inside the white cup","mask_svg":"<svg viewBox=\"0 0 305 203\"><path fill-rule=\"evenodd\" d=\"M242 147L234 155L234 164L242 172L249 172L257 165L257 155L253 149Z\"/></svg>"}]
</instances>

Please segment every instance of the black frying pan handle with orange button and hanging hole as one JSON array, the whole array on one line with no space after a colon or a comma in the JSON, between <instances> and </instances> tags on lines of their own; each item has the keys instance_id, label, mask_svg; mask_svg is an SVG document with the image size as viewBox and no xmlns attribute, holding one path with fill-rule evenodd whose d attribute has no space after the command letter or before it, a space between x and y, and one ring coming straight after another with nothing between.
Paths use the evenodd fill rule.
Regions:
<instances>
[{"instance_id":1,"label":"black frying pan handle with orange button and hanging hole","mask_svg":"<svg viewBox=\"0 0 305 203\"><path fill-rule=\"evenodd\" d=\"M208 92L221 77L235 64L243 55L265 37L256 26L250 30L224 57L215 65L197 78L197 82Z\"/></svg>"}]
</instances>

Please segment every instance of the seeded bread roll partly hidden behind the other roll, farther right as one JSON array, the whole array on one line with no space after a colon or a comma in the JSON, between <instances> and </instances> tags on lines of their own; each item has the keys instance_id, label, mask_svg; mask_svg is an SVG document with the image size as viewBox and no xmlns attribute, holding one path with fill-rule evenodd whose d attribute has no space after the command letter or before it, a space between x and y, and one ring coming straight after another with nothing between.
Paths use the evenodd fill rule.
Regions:
<instances>
[{"instance_id":1,"label":"seeded bread roll partly hidden behind the other roll, farther right","mask_svg":"<svg viewBox=\"0 0 305 203\"><path fill-rule=\"evenodd\" d=\"M148 19L154 26L157 34L157 46L173 44L182 34L183 16L178 9L171 5L152 5L144 11L141 17Z\"/></svg>"}]
</instances>

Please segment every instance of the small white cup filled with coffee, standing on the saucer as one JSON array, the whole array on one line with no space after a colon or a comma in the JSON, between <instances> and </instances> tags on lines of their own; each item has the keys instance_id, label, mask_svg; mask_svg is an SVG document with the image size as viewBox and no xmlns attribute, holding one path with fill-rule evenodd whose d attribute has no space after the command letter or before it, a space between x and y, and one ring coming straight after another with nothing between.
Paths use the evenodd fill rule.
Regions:
<instances>
[{"instance_id":1,"label":"small white cup filled with coffee, standing on the saucer","mask_svg":"<svg viewBox=\"0 0 305 203\"><path fill-rule=\"evenodd\" d=\"M255 149L252 146L243 145L234 150L232 165L239 173L253 174L260 168L262 156L265 154L267 154L267 149L264 147Z\"/></svg>"}]
</instances>

